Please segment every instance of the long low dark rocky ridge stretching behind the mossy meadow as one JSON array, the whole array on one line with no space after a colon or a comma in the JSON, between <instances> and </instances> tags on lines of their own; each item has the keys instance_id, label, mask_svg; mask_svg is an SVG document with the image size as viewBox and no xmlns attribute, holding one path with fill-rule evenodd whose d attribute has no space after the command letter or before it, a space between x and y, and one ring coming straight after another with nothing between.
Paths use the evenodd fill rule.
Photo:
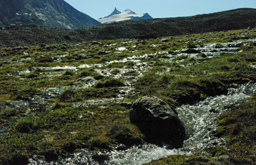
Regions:
<instances>
[{"instance_id":1,"label":"long low dark rocky ridge stretching behind the mossy meadow","mask_svg":"<svg viewBox=\"0 0 256 165\"><path fill-rule=\"evenodd\" d=\"M118 38L156 38L228 31L256 26L256 10L241 8L226 12L169 19L127 20L81 29L58 29L46 26L11 26L0 28L0 47L76 43Z\"/></svg>"}]
</instances>

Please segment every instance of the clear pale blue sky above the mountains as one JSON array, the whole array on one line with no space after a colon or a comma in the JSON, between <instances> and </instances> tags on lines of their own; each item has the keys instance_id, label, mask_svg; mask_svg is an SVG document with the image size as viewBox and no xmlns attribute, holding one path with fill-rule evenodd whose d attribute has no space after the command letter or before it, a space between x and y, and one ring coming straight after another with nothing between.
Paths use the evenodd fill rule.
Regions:
<instances>
[{"instance_id":1,"label":"clear pale blue sky above the mountains","mask_svg":"<svg viewBox=\"0 0 256 165\"><path fill-rule=\"evenodd\" d=\"M183 17L236 8L256 8L256 0L65 0L71 6L99 19L115 7L124 12L149 13L154 18Z\"/></svg>"}]
</instances>

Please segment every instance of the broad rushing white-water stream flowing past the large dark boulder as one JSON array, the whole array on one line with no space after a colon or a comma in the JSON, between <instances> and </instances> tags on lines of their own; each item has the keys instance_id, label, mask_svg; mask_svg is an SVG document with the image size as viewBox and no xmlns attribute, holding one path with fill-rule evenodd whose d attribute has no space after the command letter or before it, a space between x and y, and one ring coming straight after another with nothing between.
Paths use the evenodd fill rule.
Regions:
<instances>
[{"instance_id":1,"label":"broad rushing white-water stream flowing past the large dark boulder","mask_svg":"<svg viewBox=\"0 0 256 165\"><path fill-rule=\"evenodd\" d=\"M191 155L194 151L202 151L211 145L225 143L225 139L214 138L211 135L214 130L216 118L228 111L228 107L233 104L245 102L256 92L256 84L247 83L234 85L230 88L227 95L207 97L204 101L198 102L193 106L184 105L176 110L179 117L184 122L188 131L189 138L184 141L184 147L179 149L168 149L168 146L160 147L152 144L132 146L127 150L113 148L111 151L101 150L92 152L81 150L66 159L57 162L47 163L44 159L31 159L32 164L143 164L154 159L166 157L173 154ZM118 146L117 148L120 148Z\"/></svg>"}]
</instances>

